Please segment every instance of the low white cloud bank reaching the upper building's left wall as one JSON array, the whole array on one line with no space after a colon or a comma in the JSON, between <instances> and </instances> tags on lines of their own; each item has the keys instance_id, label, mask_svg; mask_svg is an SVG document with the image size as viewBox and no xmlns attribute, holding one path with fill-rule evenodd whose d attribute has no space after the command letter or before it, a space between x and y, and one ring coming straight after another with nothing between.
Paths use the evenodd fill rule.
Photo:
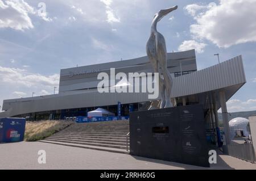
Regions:
<instances>
[{"instance_id":1,"label":"low white cloud bank reaching the upper building's left wall","mask_svg":"<svg viewBox=\"0 0 256 181\"><path fill-rule=\"evenodd\" d=\"M3 85L6 83L11 85L20 85L25 87L32 86L48 86L53 87L59 85L59 75L53 74L44 76L40 74L31 74L24 69L5 68L0 66L0 77Z\"/></svg>"}]
</instances>

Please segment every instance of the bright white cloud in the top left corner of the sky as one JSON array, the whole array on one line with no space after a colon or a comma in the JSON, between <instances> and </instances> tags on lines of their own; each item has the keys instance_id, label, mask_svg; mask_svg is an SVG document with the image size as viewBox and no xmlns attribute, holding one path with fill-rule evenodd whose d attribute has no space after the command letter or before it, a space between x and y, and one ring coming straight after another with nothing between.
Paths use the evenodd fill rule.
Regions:
<instances>
[{"instance_id":1,"label":"bright white cloud in the top left corner of the sky","mask_svg":"<svg viewBox=\"0 0 256 181\"><path fill-rule=\"evenodd\" d=\"M0 0L0 28L13 28L20 31L34 28L29 16L31 14L40 16L47 22L52 21L47 17L47 12L38 13L24 0Z\"/></svg>"}]
</instances>

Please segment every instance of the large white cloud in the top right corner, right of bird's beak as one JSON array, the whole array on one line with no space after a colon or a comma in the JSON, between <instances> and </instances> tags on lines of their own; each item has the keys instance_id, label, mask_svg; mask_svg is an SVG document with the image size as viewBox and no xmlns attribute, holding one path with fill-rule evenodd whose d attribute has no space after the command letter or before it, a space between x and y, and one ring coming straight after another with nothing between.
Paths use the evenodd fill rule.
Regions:
<instances>
[{"instance_id":1,"label":"large white cloud in the top right corner, right of bird's beak","mask_svg":"<svg viewBox=\"0 0 256 181\"><path fill-rule=\"evenodd\" d=\"M196 20L190 27L194 38L228 48L256 41L255 7L256 0L220 0L219 5L194 4L184 9Z\"/></svg>"}]
</instances>

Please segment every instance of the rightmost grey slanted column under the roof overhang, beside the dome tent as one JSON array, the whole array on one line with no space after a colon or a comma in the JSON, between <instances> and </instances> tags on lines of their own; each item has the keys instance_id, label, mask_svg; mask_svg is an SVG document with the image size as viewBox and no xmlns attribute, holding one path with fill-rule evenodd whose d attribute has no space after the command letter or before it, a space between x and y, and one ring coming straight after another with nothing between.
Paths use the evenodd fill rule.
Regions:
<instances>
[{"instance_id":1,"label":"rightmost grey slanted column under the roof overhang, beside the dome tent","mask_svg":"<svg viewBox=\"0 0 256 181\"><path fill-rule=\"evenodd\" d=\"M223 124L224 124L225 140L226 140L226 145L229 145L230 144L230 129L229 129L229 120L228 120L228 110L226 108L225 91L221 90L219 92L219 94L220 94L222 120L223 120Z\"/></svg>"}]
</instances>

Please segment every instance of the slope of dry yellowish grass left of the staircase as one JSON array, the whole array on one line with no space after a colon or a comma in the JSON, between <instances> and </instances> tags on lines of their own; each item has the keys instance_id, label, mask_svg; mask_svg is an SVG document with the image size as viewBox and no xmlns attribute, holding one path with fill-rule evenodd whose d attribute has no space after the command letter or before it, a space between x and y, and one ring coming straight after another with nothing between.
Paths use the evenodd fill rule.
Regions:
<instances>
[{"instance_id":1,"label":"slope of dry yellowish grass left of the staircase","mask_svg":"<svg viewBox=\"0 0 256 181\"><path fill-rule=\"evenodd\" d=\"M38 141L42 140L53 133L59 132L68 125L73 124L72 121L27 121L24 135L24 141Z\"/></svg>"}]
</instances>

